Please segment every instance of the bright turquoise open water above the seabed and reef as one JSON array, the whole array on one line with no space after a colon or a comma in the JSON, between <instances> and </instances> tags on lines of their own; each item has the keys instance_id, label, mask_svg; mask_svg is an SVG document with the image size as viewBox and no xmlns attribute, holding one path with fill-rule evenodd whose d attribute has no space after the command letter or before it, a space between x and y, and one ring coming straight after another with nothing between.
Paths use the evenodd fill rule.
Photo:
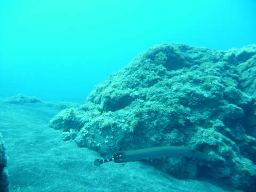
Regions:
<instances>
[{"instance_id":1,"label":"bright turquoise open water above the seabed and reef","mask_svg":"<svg viewBox=\"0 0 256 192\"><path fill-rule=\"evenodd\" d=\"M256 43L256 1L0 1L0 97L83 101L139 52Z\"/></svg>"}]
</instances>

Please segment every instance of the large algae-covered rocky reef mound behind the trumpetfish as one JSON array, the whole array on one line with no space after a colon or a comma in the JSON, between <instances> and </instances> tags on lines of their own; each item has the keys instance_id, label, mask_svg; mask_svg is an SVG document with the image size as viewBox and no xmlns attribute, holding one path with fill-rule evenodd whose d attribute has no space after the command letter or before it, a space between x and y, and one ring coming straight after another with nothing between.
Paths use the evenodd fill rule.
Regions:
<instances>
[{"instance_id":1,"label":"large algae-covered rocky reef mound behind the trumpetfish","mask_svg":"<svg viewBox=\"0 0 256 192\"><path fill-rule=\"evenodd\" d=\"M256 45L228 51L171 43L140 53L50 122L64 140L118 149L188 146L216 157L155 159L178 178L256 190Z\"/></svg>"}]
</instances>

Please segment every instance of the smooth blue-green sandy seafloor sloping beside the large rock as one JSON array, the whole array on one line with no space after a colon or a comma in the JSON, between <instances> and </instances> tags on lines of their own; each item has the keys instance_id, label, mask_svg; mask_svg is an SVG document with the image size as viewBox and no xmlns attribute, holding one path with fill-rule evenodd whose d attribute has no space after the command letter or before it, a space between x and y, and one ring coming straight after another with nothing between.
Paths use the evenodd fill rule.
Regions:
<instances>
[{"instance_id":1,"label":"smooth blue-green sandy seafloor sloping beside the large rock","mask_svg":"<svg viewBox=\"0 0 256 192\"><path fill-rule=\"evenodd\" d=\"M49 128L60 109L77 103L28 102L31 97L19 97L0 100L11 192L234 191L206 180L180 180L141 162L94 166L98 153L61 140L60 131Z\"/></svg>"}]
</instances>

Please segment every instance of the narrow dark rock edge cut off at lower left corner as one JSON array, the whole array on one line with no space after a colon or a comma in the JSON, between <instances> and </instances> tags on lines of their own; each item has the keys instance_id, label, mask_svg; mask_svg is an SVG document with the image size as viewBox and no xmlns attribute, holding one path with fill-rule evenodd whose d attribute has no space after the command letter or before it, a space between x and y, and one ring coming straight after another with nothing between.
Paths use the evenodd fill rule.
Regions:
<instances>
[{"instance_id":1,"label":"narrow dark rock edge cut off at lower left corner","mask_svg":"<svg viewBox=\"0 0 256 192\"><path fill-rule=\"evenodd\" d=\"M7 166L7 158L5 155L5 147L4 147L2 134L0 133L0 191L1 192L9 192L8 176L4 169L6 166Z\"/></svg>"}]
</instances>

